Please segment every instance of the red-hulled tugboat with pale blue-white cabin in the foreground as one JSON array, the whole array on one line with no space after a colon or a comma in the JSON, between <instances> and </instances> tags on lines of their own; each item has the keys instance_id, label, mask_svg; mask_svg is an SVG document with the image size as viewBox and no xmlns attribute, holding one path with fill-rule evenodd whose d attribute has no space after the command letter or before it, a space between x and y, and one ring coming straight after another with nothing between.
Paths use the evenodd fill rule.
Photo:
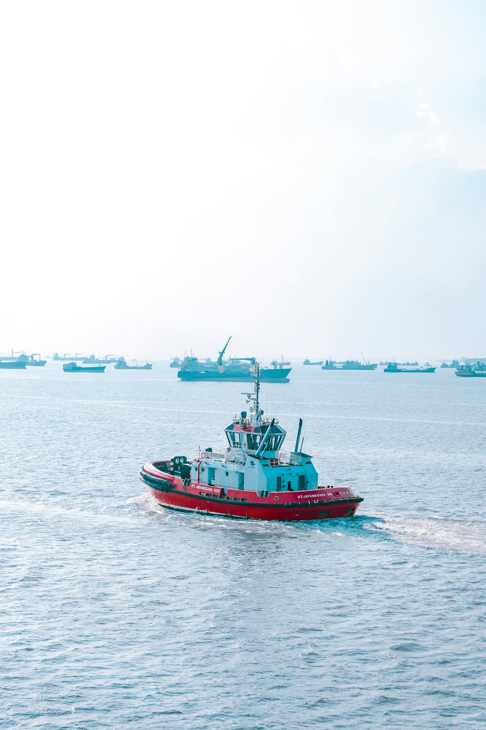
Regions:
<instances>
[{"instance_id":1,"label":"red-hulled tugboat with pale blue-white cabin in the foreground","mask_svg":"<svg viewBox=\"0 0 486 730\"><path fill-rule=\"evenodd\" d=\"M326 520L350 517L363 497L349 487L318 486L312 456L299 447L302 418L294 451L281 451L286 431L259 406L259 366L251 403L225 429L229 447L207 448L190 463L185 456L151 461L140 478L154 499L174 510L203 512L253 520ZM303 439L302 439L303 440Z\"/></svg>"}]
</instances>

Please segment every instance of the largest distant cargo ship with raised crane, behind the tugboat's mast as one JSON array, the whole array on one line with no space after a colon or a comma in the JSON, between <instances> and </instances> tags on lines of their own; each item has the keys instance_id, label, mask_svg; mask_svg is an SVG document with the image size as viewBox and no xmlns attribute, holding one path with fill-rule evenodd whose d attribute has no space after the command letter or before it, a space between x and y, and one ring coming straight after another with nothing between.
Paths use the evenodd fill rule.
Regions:
<instances>
[{"instance_id":1,"label":"largest distant cargo ship with raised crane, behind the tugboat's mast","mask_svg":"<svg viewBox=\"0 0 486 730\"><path fill-rule=\"evenodd\" d=\"M255 379L255 358L230 358L223 361L224 353L230 342L228 338L226 345L219 353L216 362L211 360L200 361L196 357L189 356L184 358L181 369L177 373L180 380L235 380L245 383L248 380ZM291 368L282 367L281 364L273 366L273 368L263 368L260 370L260 380L272 383L289 383L289 372Z\"/></svg>"}]
</instances>

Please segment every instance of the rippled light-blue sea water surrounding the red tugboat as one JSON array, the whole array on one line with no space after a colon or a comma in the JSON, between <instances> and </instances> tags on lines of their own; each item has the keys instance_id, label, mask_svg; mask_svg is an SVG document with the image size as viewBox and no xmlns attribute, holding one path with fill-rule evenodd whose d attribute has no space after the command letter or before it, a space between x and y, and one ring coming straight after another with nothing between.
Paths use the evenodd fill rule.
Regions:
<instances>
[{"instance_id":1,"label":"rippled light-blue sea water surrounding the red tugboat","mask_svg":"<svg viewBox=\"0 0 486 730\"><path fill-rule=\"evenodd\" d=\"M294 367L263 406L358 515L158 507L242 383L0 371L0 727L486 727L486 382Z\"/></svg>"}]
</instances>

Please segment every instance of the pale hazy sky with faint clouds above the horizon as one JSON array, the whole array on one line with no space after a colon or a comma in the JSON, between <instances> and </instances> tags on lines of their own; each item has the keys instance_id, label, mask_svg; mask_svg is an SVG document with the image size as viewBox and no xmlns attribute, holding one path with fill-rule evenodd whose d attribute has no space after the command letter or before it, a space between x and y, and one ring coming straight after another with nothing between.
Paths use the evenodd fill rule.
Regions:
<instances>
[{"instance_id":1,"label":"pale hazy sky with faint clouds above the horizon","mask_svg":"<svg viewBox=\"0 0 486 730\"><path fill-rule=\"evenodd\" d=\"M484 356L486 3L0 5L0 351Z\"/></svg>"}]
</instances>

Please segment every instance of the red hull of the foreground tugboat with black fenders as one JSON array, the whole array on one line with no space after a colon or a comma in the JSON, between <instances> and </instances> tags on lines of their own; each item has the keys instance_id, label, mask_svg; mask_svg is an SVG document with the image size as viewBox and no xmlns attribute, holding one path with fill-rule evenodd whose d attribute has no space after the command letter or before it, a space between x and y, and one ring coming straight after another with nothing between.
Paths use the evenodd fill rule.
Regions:
<instances>
[{"instance_id":1,"label":"red hull of the foreground tugboat with black fenders","mask_svg":"<svg viewBox=\"0 0 486 730\"><path fill-rule=\"evenodd\" d=\"M146 464L140 478L164 507L242 520L295 522L350 517L363 501L348 487L319 487L312 492L270 492L264 497L251 491L225 491L199 483L183 483L180 477L161 472L154 464Z\"/></svg>"}]
</instances>

